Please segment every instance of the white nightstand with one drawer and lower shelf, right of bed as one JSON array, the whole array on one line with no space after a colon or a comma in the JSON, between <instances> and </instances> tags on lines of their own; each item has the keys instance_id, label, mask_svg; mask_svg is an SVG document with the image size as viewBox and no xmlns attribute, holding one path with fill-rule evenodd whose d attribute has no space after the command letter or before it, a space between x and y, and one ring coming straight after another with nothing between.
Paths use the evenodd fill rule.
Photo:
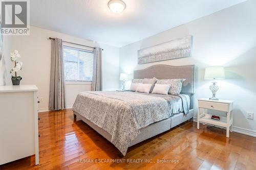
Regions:
<instances>
[{"instance_id":1,"label":"white nightstand with one drawer and lower shelf, right of bed","mask_svg":"<svg viewBox=\"0 0 256 170\"><path fill-rule=\"evenodd\" d=\"M228 100L198 99L197 129L199 129L200 122L221 126L227 129L226 136L229 137L229 130L232 132L233 126L233 103L233 101ZM204 109L203 114L200 114L200 108ZM227 112L227 116L220 116L220 120L211 119L211 115L207 114L207 109Z\"/></svg>"}]
</instances>

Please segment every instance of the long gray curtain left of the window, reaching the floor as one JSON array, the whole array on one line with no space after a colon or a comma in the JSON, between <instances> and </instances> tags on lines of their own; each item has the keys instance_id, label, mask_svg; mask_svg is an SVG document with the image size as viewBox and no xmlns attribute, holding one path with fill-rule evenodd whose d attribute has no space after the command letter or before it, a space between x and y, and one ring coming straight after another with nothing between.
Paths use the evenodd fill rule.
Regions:
<instances>
[{"instance_id":1,"label":"long gray curtain left of the window, reaching the floor","mask_svg":"<svg viewBox=\"0 0 256 170\"><path fill-rule=\"evenodd\" d=\"M49 109L65 109L65 77L62 57L62 40L59 38L52 40Z\"/></svg>"}]
</instances>

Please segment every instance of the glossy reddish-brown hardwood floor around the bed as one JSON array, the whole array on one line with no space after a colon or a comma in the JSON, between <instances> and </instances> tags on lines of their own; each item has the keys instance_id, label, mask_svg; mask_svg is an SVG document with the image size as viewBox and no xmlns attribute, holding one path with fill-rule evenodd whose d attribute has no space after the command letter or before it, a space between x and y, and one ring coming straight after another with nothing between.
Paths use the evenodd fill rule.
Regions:
<instances>
[{"instance_id":1,"label":"glossy reddish-brown hardwood floor around the bed","mask_svg":"<svg viewBox=\"0 0 256 170\"><path fill-rule=\"evenodd\" d=\"M193 122L138 143L120 159L114 145L85 123L75 122L71 110L39 117L40 164L34 166L31 156L0 169L256 169L256 138L234 132L226 138L225 131L202 125L197 130ZM123 162L96 163L111 160Z\"/></svg>"}]
</instances>

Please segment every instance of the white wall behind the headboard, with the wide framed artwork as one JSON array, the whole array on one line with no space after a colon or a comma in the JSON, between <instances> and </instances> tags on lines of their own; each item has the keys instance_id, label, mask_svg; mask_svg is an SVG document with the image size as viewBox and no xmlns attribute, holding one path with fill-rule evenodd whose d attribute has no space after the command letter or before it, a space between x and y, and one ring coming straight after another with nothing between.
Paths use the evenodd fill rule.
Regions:
<instances>
[{"instance_id":1,"label":"white wall behind the headboard, with the wide framed artwork","mask_svg":"<svg viewBox=\"0 0 256 170\"><path fill-rule=\"evenodd\" d=\"M139 49L186 35L193 35L192 57L137 64ZM196 99L211 95L210 81L204 80L205 67L224 65L226 79L218 82L217 97L234 100L234 126L256 134L256 117L246 118L247 111L256 113L256 1L247 1L120 48L120 72L129 73L154 64L197 65Z\"/></svg>"}]
</instances>

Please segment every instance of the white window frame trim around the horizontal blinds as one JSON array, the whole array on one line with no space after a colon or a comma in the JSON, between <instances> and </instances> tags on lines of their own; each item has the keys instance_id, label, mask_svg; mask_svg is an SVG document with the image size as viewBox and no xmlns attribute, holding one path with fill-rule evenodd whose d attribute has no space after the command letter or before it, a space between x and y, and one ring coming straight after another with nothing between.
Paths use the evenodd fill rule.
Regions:
<instances>
[{"instance_id":1,"label":"white window frame trim around the horizontal blinds","mask_svg":"<svg viewBox=\"0 0 256 170\"><path fill-rule=\"evenodd\" d=\"M68 42L63 42L62 46L67 46L70 48L76 48L78 50L84 50L84 51L90 51L93 52L93 49L90 47L86 47L86 46L82 46L82 45L76 45L76 44L71 44ZM63 56L63 61L65 61L64 56ZM65 69L65 67L64 67ZM79 72L79 71L78 71ZM65 74L65 70L64 70L64 74ZM72 85L72 84L92 84L92 81L88 81L88 80L66 80L65 79L65 84L67 85Z\"/></svg>"}]
</instances>

